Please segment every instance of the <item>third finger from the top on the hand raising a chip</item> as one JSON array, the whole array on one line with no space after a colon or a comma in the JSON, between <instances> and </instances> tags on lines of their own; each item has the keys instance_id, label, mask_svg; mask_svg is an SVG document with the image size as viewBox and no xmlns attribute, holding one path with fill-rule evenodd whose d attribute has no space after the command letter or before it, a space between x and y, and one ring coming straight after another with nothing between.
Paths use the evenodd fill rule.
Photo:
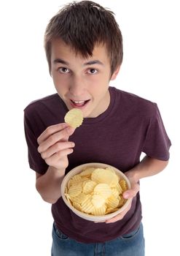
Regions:
<instances>
[{"instance_id":1,"label":"third finger from the top on the hand raising a chip","mask_svg":"<svg viewBox=\"0 0 180 256\"><path fill-rule=\"evenodd\" d=\"M43 159L51 157L53 154L57 153L58 151L63 151L67 148L74 148L75 144L71 141L66 142L59 142L52 145L50 148L47 148L46 151L42 152L41 156Z\"/></svg>"}]
</instances>

